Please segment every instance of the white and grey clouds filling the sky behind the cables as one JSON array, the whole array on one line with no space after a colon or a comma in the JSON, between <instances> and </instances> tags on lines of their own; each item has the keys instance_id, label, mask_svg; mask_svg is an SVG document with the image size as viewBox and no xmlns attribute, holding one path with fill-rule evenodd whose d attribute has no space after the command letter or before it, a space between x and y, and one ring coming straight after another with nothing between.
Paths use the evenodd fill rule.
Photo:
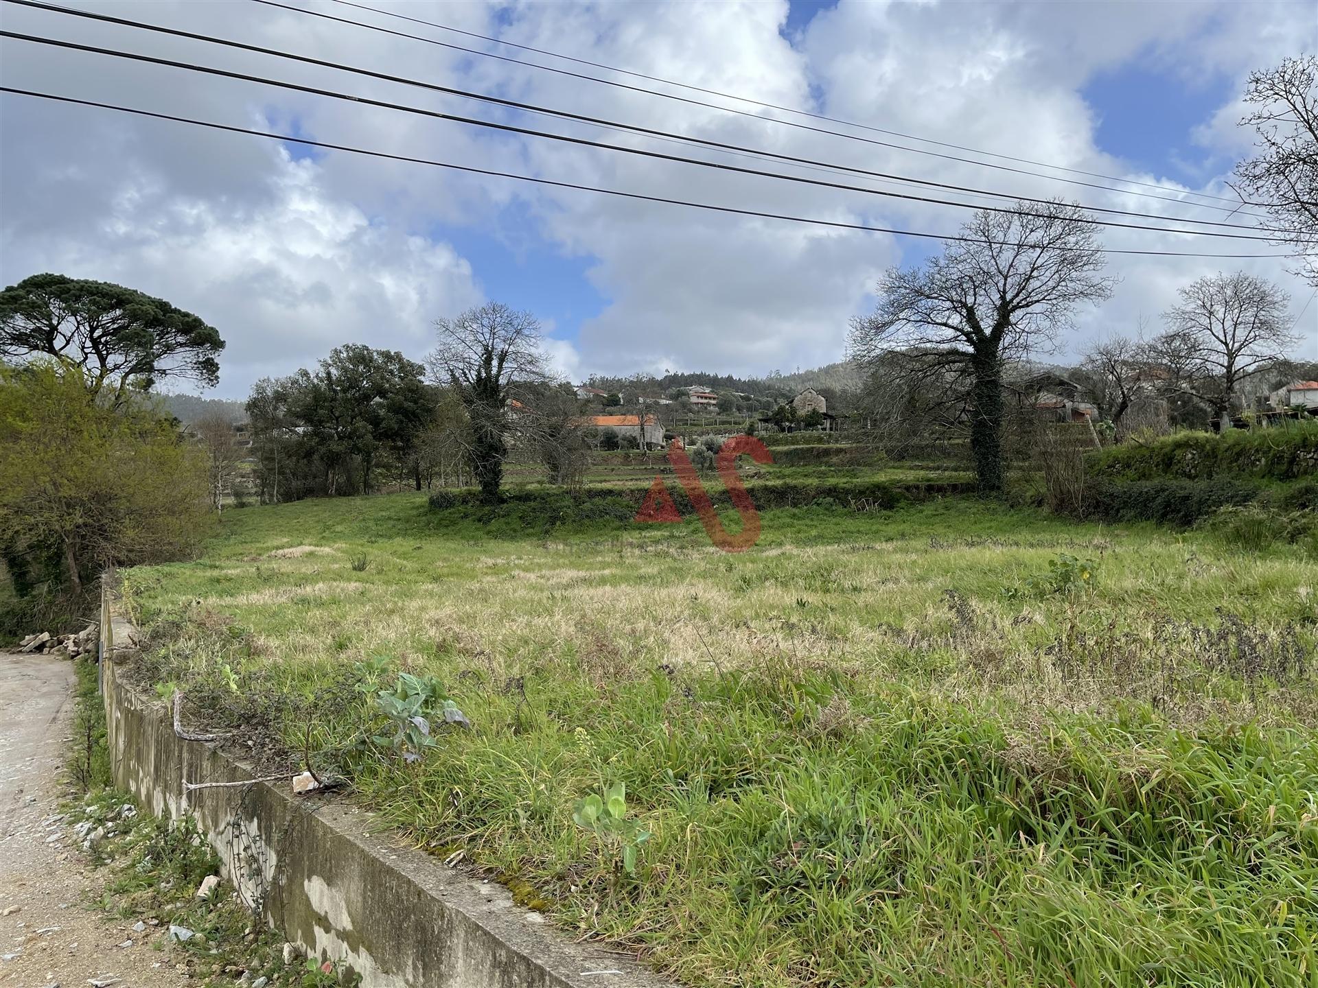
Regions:
<instances>
[{"instance_id":1,"label":"white and grey clouds filling the sky behind the cables","mask_svg":"<svg viewBox=\"0 0 1318 988\"><path fill-rule=\"evenodd\" d=\"M1314 47L1318 29L1311 24L1311 9L1306 13L1305 7L1152 4L1136 13L1133 7L1107 4L842 0L836 9L816 16L795 47L780 34L787 14L780 0L699 7L413 3L405 12L782 105L808 108L817 96L822 112L830 115L1156 182L1169 195L1177 195L1184 187L1176 182L1132 174L1128 163L1095 146L1095 113L1085 103L1082 87L1095 72L1118 70L1132 59L1188 78L1214 72L1243 82L1251 69ZM240 24L228 11L221 4L181 3L149 8L121 4L115 9L127 17L253 40L401 76L787 154L1014 194L1060 192L1091 204L1217 216L1189 206L842 141L272 8L253 8ZM482 46L361 12L332 12ZM780 162L747 161L584 124L494 111L415 87L98 28L49 13L7 11L9 25L590 140L774 171L793 170ZM552 63L547 57L519 57ZM612 76L605 70L559 65L664 88ZM333 142L739 208L941 232L954 232L966 215L945 207L493 136L457 124L94 55L37 53L20 42L5 42L3 75L7 84L244 126L273 120ZM689 91L673 92L726 103ZM589 260L589 279L605 299L604 308L581 325L575 344L563 339L550 344L552 358L572 377L592 370L666 366L787 370L836 360L847 316L869 307L867 292L875 275L900 260L896 242L886 234L699 212L351 154L331 153L314 163L299 163L256 138L18 97L4 99L4 113L8 140L0 175L0 277L8 283L37 270L59 270L123 281L192 308L229 340L223 362L227 393L241 394L258 374L310 365L330 346L347 341L420 356L430 344L434 317L481 300L492 283L506 277L497 270L473 271L444 241L447 229L482 231L507 241L519 254L530 252L532 277L535 250ZM1203 184L1191 191L1226 191L1223 173L1246 150L1234 124L1236 113L1234 105L1222 108L1198 129L1197 140L1210 169L1217 171L1210 170ZM844 179L795 171L867 184L855 175ZM517 209L510 212L513 204ZM509 229L510 215L530 220ZM1106 241L1110 246L1149 249L1186 249L1193 244L1199 249L1218 246L1223 253L1253 253L1260 246L1257 252L1271 250L1248 241L1190 241L1122 231L1110 231ZM1246 249L1249 246L1255 250ZM1133 325L1141 312L1156 316L1172 303L1178 285L1227 263L1112 258L1122 285L1101 311L1085 314L1073 339L1081 341L1087 335ZM1282 265L1257 261L1240 266L1286 283L1297 296L1298 312L1307 291L1285 275ZM534 294L535 286L527 287ZM1318 304L1310 312L1315 316L1310 348L1315 349Z\"/></svg>"}]
</instances>

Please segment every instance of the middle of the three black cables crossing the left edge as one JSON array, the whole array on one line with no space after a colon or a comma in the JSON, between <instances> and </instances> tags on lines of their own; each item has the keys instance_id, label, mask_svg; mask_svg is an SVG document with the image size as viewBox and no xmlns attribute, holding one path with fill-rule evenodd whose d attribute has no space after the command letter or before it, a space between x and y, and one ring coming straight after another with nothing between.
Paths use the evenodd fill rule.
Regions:
<instances>
[{"instance_id":1,"label":"middle of the three black cables crossing the left edge","mask_svg":"<svg viewBox=\"0 0 1318 988\"><path fill-rule=\"evenodd\" d=\"M181 69L181 70L185 70L185 71L202 72L202 74L206 74L206 75L215 75L215 76L227 78L227 79L240 79L243 82L253 82L253 83L260 83L260 84L264 84L264 86L275 86L278 88L293 90L295 92L307 92L307 94L316 95L316 96L326 96L326 97L330 97L330 99L345 100L345 101L349 101L349 103L358 103L358 104L369 105L369 107L380 107L381 109L393 109L393 111L398 111L398 112L403 112L403 113L414 113L414 115L418 115L418 116L427 116L427 117L431 117L431 119L435 119L435 120L448 120L448 121L452 121L452 123L467 124L467 125L471 125L471 126L480 126L480 128L486 128L486 129L492 129L492 130L501 130L501 132L505 132L505 133L517 133L517 134L523 134L523 136L529 136L529 137L540 137L540 138L544 138L544 140L561 141L561 142L565 142L565 144L575 144L575 145L587 146L587 148L600 148L600 149L604 149L604 150L618 151L621 154L633 154L633 155L639 155L639 157L646 157L646 158L655 158L655 159L659 159L659 161L672 161L672 162L679 162L679 163L684 163L684 165L695 165L695 166L705 167L705 169L714 169L714 170L718 170L718 171L730 171L730 173L735 173L735 174L755 175L755 177L759 177L759 178L772 178L772 179L782 180L782 182L795 182L797 184L817 186L817 187L822 187L822 188L836 188L836 190L847 191L847 192L863 192L866 195L882 196L882 198L887 198L887 199L902 199L902 200L907 200L907 202L928 203L928 204L933 204L933 206L952 206L952 207L956 207L956 208L960 208L960 209L981 209L981 211L1003 213L1003 215L1011 215L1011 216L1032 216L1032 217L1036 217L1036 219L1046 219L1050 215L1050 213L1032 212L1029 209L1021 209L1021 208L1004 208L1004 207L999 207L999 206L975 206L975 204L971 204L971 203L962 203L962 202L956 202L956 200L952 200L952 199L936 199L933 196L920 196L920 195L912 195L909 192L891 192L891 191L884 191L884 190L879 190L879 188L869 188L869 187L865 187L865 186L849 186L849 184L844 184L841 182L825 182L822 179L805 178L805 177L801 177L801 175L788 175L788 174L783 174L780 171L764 171L764 170L760 170L760 169L749 169L749 167L742 167L742 166L738 166L738 165L725 165L725 163L720 163L720 162L701 161L699 158L685 158L685 157L677 155L677 154L664 154L662 151L645 150L645 149L641 149L641 148L629 148L626 145L608 144L608 142L604 142L604 141L589 141L589 140L587 140L584 137L571 137L571 136L567 136L567 134L556 134L556 133L552 133L552 132L548 132L548 130L532 130L530 128L514 126L511 124L497 124L497 123L493 123L493 121L489 121L489 120L478 120L476 117L463 117L463 116L457 116L457 115L453 115L453 113L444 113L444 112L440 112L440 111L424 109L424 108L420 108L420 107L409 107L409 105L401 104L401 103L389 103L389 101L385 101L385 100L374 100L374 99L370 99L370 97L366 97L366 96L355 96L355 95L339 92L339 91L335 91L335 90L324 90L324 88L319 88L319 87L315 87L315 86L302 86L299 83L283 82L283 80L279 80L279 79L270 79L270 78L266 78L266 76L250 75L250 74L246 74L246 72L236 72L236 71L231 71L231 70L227 70L227 69L216 69L214 66L203 66L203 65L196 65L196 63L191 63L191 62L178 62L175 59L159 58L157 55L142 55L142 54L137 54L137 53L132 53L132 51L119 51L116 49L105 49L105 47L99 47L99 46L95 46L95 45L80 45L78 42L72 42L72 41L59 41L57 38L46 38L46 37L34 36L34 34L21 34L18 32L0 30L0 37L13 38L16 41L26 41L26 42L30 42L30 43L37 43L37 45L50 45L50 46L54 46L54 47L62 47L62 49L67 49L67 50L72 50L72 51L87 51L87 53L91 53L91 54L108 55L108 57L112 57L112 58L124 58L124 59L129 59L129 61L134 61L134 62L145 62L145 63L149 63L149 65L158 65L158 66L165 66L165 67L169 67L169 69ZM1249 233L1223 233L1220 231L1186 231L1186 229L1177 229L1174 227L1149 227L1147 224L1137 224L1137 223L1119 223L1116 220L1095 219L1095 217L1091 217L1091 216L1079 216L1079 217L1075 217L1075 219L1078 221L1081 221L1081 223L1089 223L1089 224L1094 224L1094 225L1115 227L1115 228L1123 228L1123 229L1137 229L1137 231L1155 232L1155 233L1178 233L1178 234L1184 234L1184 236L1195 236L1195 237L1222 237L1222 238L1227 238L1227 240L1252 240L1252 241L1264 241L1264 242L1276 240L1276 236L1256 236L1256 234L1249 234ZM1247 228L1247 229L1257 229L1257 228ZM1272 233L1276 234L1277 232L1275 231Z\"/></svg>"}]
</instances>

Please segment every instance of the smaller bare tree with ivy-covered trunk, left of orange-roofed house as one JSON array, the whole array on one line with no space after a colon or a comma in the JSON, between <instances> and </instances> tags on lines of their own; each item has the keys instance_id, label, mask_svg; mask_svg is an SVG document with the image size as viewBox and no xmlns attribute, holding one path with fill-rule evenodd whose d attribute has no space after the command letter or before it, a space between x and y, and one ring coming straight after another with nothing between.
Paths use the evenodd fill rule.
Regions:
<instances>
[{"instance_id":1,"label":"smaller bare tree with ivy-covered trunk, left of orange-roofed house","mask_svg":"<svg viewBox=\"0 0 1318 988\"><path fill-rule=\"evenodd\" d=\"M439 345L430 354L431 375L451 385L471 425L472 472L481 499L497 503L507 454L509 389L514 382L547 381L540 324L530 312L500 302L469 308L435 323Z\"/></svg>"}]
</instances>

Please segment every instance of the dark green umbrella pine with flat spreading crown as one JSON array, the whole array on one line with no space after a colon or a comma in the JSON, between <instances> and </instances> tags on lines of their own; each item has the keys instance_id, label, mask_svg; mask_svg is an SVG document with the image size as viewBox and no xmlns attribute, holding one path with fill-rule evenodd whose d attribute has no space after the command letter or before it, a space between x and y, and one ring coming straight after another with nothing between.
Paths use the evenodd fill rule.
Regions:
<instances>
[{"instance_id":1,"label":"dark green umbrella pine with flat spreading crown","mask_svg":"<svg viewBox=\"0 0 1318 988\"><path fill-rule=\"evenodd\" d=\"M116 404L162 378L215 386L223 349L199 316L120 285L34 274L0 292L0 357L58 357Z\"/></svg>"}]
</instances>

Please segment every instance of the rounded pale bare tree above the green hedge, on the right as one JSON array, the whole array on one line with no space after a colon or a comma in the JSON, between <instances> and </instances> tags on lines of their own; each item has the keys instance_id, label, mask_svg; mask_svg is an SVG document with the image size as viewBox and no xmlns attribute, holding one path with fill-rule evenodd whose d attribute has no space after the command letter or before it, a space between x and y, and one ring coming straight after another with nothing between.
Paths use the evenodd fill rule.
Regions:
<instances>
[{"instance_id":1,"label":"rounded pale bare tree above the green hedge, on the right","mask_svg":"<svg viewBox=\"0 0 1318 988\"><path fill-rule=\"evenodd\" d=\"M1244 271L1199 278L1180 290L1181 304L1162 317L1152 344L1173 391L1207 404L1219 431L1231 424L1231 398L1247 378L1275 366L1298 343L1290 296Z\"/></svg>"}]
</instances>

